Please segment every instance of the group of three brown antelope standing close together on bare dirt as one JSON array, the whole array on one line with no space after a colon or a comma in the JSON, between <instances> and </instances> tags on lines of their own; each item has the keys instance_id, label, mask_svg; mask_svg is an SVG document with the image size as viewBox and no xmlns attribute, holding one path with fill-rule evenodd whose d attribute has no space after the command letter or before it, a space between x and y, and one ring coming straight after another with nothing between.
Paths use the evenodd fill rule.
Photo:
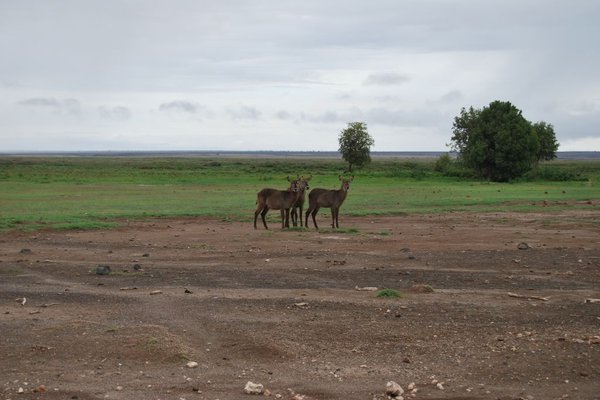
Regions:
<instances>
[{"instance_id":1,"label":"group of three brown antelope standing close together on bare dirt","mask_svg":"<svg viewBox=\"0 0 600 400\"><path fill-rule=\"evenodd\" d=\"M258 192L256 196L256 211L254 211L254 229L256 229L256 220L258 214L263 221L265 229L269 229L265 216L269 210L280 210L281 212L281 229L290 227L290 215L292 218L292 224L298 226L302 225L302 211L304 209L305 193L309 189L308 181L311 177L298 176L296 179L291 179L288 176L290 187L287 190L277 189L263 189ZM348 195L350 189L350 182L354 177L343 178L339 177L342 181L342 187L339 190L328 190L328 189L313 189L308 194L308 209L306 210L306 217L304 219L304 226L308 228L308 217L312 215L313 223L315 228L319 228L317 225L316 216L321 207L327 207L331 209L331 226L339 228L340 224L338 216L340 213L340 206Z\"/></svg>"}]
</instances>

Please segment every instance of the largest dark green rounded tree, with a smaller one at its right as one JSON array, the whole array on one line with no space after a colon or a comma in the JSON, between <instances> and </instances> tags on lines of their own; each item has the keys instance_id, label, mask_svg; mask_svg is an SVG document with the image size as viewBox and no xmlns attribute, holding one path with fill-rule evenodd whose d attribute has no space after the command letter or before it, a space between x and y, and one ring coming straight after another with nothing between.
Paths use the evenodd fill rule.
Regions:
<instances>
[{"instance_id":1,"label":"largest dark green rounded tree, with a smaller one at its right","mask_svg":"<svg viewBox=\"0 0 600 400\"><path fill-rule=\"evenodd\" d=\"M465 166L493 181L528 172L540 157L540 140L521 110L494 101L481 110L463 108L454 118L452 148Z\"/></svg>"}]
</instances>

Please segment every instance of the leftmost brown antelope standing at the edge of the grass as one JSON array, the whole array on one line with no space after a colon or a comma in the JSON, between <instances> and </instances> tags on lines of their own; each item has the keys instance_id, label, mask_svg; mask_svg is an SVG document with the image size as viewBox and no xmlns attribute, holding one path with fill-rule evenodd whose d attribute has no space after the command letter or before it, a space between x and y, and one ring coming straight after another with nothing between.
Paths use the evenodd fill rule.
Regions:
<instances>
[{"instance_id":1,"label":"leftmost brown antelope standing at the edge of the grass","mask_svg":"<svg viewBox=\"0 0 600 400\"><path fill-rule=\"evenodd\" d=\"M265 229L269 229L265 216L270 209L281 210L281 229L290 227L290 208L300 196L300 178L290 179L290 187L287 190L263 189L256 195L256 211L254 211L254 229L258 214L262 218Z\"/></svg>"}]
</instances>

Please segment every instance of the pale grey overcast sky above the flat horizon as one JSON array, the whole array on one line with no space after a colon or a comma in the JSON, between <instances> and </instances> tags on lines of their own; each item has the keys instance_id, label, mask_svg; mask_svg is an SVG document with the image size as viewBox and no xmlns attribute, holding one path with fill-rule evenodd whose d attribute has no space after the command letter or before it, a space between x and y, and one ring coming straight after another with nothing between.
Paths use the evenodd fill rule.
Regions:
<instances>
[{"instance_id":1,"label":"pale grey overcast sky above the flat horizon","mask_svg":"<svg viewBox=\"0 0 600 400\"><path fill-rule=\"evenodd\" d=\"M510 101L600 151L598 0L0 0L0 151L444 151Z\"/></svg>"}]
</instances>

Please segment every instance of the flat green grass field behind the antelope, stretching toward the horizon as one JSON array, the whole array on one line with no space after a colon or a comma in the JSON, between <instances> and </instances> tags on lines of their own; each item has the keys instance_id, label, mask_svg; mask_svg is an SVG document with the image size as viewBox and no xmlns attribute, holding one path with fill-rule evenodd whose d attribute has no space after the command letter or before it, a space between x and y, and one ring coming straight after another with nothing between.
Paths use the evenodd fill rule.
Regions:
<instances>
[{"instance_id":1,"label":"flat green grass field behind the antelope, stretching toward the horizon","mask_svg":"<svg viewBox=\"0 0 600 400\"><path fill-rule=\"evenodd\" d=\"M337 189L345 166L327 158L1 157L0 230L110 228L148 217L251 221L260 189L285 189L298 174L312 175L311 188ZM443 176L434 166L375 159L354 173L342 214L549 212L600 199L598 161L553 161L512 183Z\"/></svg>"}]
</instances>

